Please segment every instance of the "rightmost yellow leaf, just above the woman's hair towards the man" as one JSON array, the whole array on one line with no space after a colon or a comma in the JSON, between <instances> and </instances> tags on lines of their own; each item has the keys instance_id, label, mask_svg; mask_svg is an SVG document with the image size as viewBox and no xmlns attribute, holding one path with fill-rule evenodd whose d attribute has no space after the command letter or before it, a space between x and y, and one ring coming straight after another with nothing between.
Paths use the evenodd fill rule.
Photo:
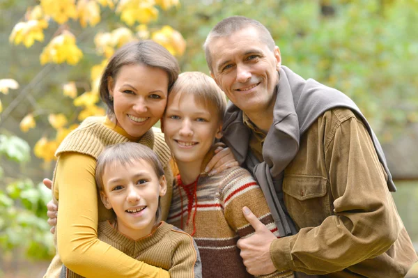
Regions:
<instances>
[{"instance_id":1,"label":"rightmost yellow leaf, just above the woman's hair towards the man","mask_svg":"<svg viewBox=\"0 0 418 278\"><path fill-rule=\"evenodd\" d=\"M166 25L161 30L155 31L151 38L167 48L175 56L181 56L185 52L185 39L178 31L171 28L171 26Z\"/></svg>"}]
</instances>

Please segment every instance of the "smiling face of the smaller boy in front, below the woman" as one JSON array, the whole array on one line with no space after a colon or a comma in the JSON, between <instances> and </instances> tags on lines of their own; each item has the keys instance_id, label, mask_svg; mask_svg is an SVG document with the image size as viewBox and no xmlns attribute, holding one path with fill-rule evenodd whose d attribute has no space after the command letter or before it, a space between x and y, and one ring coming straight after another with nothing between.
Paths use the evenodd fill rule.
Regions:
<instances>
[{"instance_id":1,"label":"smiling face of the smaller boy in front, below the woman","mask_svg":"<svg viewBox=\"0 0 418 278\"><path fill-rule=\"evenodd\" d=\"M100 192L106 208L116 213L118 231L137 240L151 233L159 196L164 196L165 177L158 178L153 167L144 160L132 164L113 164L104 169L104 192Z\"/></svg>"}]
</instances>

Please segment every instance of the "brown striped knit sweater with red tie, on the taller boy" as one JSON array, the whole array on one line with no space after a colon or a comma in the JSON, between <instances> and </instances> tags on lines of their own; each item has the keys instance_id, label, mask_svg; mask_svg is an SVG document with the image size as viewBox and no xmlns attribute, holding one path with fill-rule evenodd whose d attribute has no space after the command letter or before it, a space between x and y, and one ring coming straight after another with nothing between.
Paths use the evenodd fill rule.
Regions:
<instances>
[{"instance_id":1,"label":"brown striped knit sweater with red tie, on the taller boy","mask_svg":"<svg viewBox=\"0 0 418 278\"><path fill-rule=\"evenodd\" d=\"M263 192L251 174L240 167L215 176L201 175L183 185L177 176L167 222L193 235L201 254L203 277L253 277L245 270L236 246L254 229L242 215L247 206L274 235L278 235ZM293 277L274 272L265 277Z\"/></svg>"}]
</instances>

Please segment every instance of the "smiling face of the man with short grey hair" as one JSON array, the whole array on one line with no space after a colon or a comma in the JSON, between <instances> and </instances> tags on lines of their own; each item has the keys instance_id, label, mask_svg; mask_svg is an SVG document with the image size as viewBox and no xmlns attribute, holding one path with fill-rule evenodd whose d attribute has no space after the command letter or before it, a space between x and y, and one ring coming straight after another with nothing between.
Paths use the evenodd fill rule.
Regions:
<instances>
[{"instance_id":1,"label":"smiling face of the man with short grey hair","mask_svg":"<svg viewBox=\"0 0 418 278\"><path fill-rule=\"evenodd\" d=\"M279 82L279 47L274 51L249 26L231 36L215 38L209 45L212 75L219 88L246 114L274 106L274 86Z\"/></svg>"}]
</instances>

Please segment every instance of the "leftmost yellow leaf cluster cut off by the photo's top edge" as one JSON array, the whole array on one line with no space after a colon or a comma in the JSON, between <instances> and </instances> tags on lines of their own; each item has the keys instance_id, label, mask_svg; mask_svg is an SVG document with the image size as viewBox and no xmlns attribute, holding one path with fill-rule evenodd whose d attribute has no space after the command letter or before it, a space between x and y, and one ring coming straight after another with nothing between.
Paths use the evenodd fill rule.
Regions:
<instances>
[{"instance_id":1,"label":"leftmost yellow leaf cluster cut off by the photo's top edge","mask_svg":"<svg viewBox=\"0 0 418 278\"><path fill-rule=\"evenodd\" d=\"M67 22L70 18L77 19L75 0L40 0L40 6L45 15L51 16L59 24Z\"/></svg>"}]
</instances>

